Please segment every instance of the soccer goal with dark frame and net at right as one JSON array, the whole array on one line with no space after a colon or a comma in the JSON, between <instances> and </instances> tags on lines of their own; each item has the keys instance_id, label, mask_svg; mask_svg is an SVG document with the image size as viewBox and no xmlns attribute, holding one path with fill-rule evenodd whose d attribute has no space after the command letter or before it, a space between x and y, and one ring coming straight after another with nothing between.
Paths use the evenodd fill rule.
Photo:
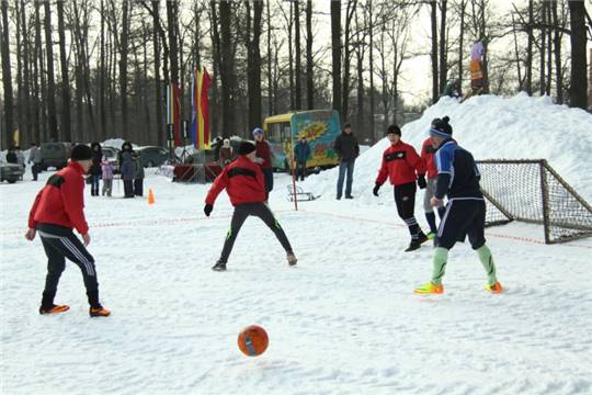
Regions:
<instances>
[{"instance_id":1,"label":"soccer goal with dark frame and net at right","mask_svg":"<svg viewBox=\"0 0 592 395\"><path fill-rule=\"evenodd\" d=\"M488 159L477 166L487 201L486 226L540 224L546 244L592 236L592 207L545 159Z\"/></svg>"}]
</instances>

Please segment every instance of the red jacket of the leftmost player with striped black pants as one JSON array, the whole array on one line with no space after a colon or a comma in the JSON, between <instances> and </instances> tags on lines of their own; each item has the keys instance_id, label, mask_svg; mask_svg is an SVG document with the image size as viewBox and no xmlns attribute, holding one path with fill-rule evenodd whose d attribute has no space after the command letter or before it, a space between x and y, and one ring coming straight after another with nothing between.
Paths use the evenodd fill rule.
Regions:
<instances>
[{"instance_id":1,"label":"red jacket of the leftmost player with striped black pants","mask_svg":"<svg viewBox=\"0 0 592 395\"><path fill-rule=\"evenodd\" d=\"M38 223L76 228L81 235L89 232L84 218L84 169L75 161L49 177L37 193L29 213L29 227Z\"/></svg>"}]
</instances>

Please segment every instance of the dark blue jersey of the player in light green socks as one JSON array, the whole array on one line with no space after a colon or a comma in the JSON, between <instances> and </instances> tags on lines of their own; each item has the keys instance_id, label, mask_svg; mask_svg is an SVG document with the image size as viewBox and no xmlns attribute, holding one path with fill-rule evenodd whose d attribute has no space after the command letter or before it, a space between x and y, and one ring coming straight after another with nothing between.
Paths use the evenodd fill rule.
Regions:
<instances>
[{"instance_id":1,"label":"dark blue jersey of the player in light green socks","mask_svg":"<svg viewBox=\"0 0 592 395\"><path fill-rule=\"evenodd\" d=\"M437 199L473 198L483 199L479 179L481 174L473 155L459 147L455 140L445 140L435 153L437 183L434 195Z\"/></svg>"}]
</instances>

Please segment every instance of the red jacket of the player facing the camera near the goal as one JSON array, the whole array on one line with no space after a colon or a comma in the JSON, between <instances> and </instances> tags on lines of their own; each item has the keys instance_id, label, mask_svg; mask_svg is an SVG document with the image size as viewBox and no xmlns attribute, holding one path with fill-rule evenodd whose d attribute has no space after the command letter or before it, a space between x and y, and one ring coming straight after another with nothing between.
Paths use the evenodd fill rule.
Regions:
<instances>
[{"instance_id":1,"label":"red jacket of the player facing the camera near the goal","mask_svg":"<svg viewBox=\"0 0 592 395\"><path fill-rule=\"evenodd\" d=\"M415 182L417 176L425 174L425 163L420 158L415 149L399 140L390 145L383 154L383 165L376 178L377 184L384 184L386 179L390 179L392 185Z\"/></svg>"}]
</instances>

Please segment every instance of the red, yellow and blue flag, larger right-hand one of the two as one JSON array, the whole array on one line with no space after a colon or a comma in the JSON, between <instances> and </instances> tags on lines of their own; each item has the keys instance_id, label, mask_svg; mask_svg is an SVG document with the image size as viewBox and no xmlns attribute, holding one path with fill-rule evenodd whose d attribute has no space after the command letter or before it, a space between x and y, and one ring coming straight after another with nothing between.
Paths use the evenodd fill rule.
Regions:
<instances>
[{"instance_id":1,"label":"red, yellow and blue flag, larger right-hand one of the two","mask_svg":"<svg viewBox=\"0 0 592 395\"><path fill-rule=\"evenodd\" d=\"M209 106L207 92L212 80L206 69L196 70L192 82L191 138L197 149L209 149Z\"/></svg>"}]
</instances>

